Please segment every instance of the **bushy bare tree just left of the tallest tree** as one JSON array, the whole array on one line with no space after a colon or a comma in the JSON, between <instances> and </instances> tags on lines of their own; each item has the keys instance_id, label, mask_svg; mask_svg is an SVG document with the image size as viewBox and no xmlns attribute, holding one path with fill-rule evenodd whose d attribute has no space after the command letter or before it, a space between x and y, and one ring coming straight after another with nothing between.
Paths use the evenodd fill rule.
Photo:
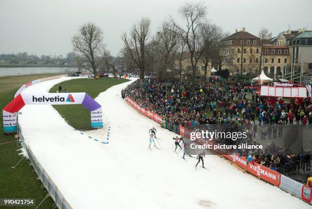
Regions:
<instances>
[{"instance_id":1,"label":"bushy bare tree just left of the tallest tree","mask_svg":"<svg viewBox=\"0 0 312 209\"><path fill-rule=\"evenodd\" d=\"M163 79L165 69L175 58L178 38L176 28L166 21L163 22L160 31L154 37L157 72L160 80Z\"/></svg>"}]
</instances>

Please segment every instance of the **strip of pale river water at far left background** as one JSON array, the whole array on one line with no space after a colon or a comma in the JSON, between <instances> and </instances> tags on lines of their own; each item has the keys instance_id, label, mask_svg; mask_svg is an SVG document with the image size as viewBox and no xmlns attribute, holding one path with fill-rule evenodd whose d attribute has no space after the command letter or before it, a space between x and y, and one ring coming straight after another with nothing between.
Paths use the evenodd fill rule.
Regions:
<instances>
[{"instance_id":1,"label":"strip of pale river water at far left background","mask_svg":"<svg viewBox=\"0 0 312 209\"><path fill-rule=\"evenodd\" d=\"M26 74L74 73L77 67L0 67L0 77Z\"/></svg>"}]
</instances>

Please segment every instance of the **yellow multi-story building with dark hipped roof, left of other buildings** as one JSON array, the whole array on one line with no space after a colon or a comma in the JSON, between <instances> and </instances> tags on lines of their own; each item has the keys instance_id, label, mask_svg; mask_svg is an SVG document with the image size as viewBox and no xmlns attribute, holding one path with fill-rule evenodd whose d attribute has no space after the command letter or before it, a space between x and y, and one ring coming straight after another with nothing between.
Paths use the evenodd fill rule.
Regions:
<instances>
[{"instance_id":1,"label":"yellow multi-story building with dark hipped roof, left of other buildings","mask_svg":"<svg viewBox=\"0 0 312 209\"><path fill-rule=\"evenodd\" d=\"M261 49L261 39L255 35L236 30L222 40L221 56L223 69L229 69L230 74L257 73Z\"/></svg>"}]
</instances>

